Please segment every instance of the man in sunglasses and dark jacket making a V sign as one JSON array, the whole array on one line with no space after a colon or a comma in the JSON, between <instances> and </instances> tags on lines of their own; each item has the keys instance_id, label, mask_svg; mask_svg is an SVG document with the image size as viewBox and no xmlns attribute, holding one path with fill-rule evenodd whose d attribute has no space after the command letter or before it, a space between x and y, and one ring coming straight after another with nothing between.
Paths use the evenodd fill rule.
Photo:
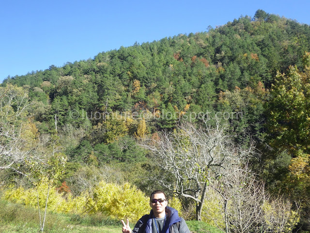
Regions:
<instances>
[{"instance_id":1,"label":"man in sunglasses and dark jacket making a V sign","mask_svg":"<svg viewBox=\"0 0 310 233\"><path fill-rule=\"evenodd\" d=\"M166 194L161 190L155 190L150 196L152 208L149 215L142 216L133 230L122 220L123 233L190 233L184 218L178 215L178 211L167 206Z\"/></svg>"}]
</instances>

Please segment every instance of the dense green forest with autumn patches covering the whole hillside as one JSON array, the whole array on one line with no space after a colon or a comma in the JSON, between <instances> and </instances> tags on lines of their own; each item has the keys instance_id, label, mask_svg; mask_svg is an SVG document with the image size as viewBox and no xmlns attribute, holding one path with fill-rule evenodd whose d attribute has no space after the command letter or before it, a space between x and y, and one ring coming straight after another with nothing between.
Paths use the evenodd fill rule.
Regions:
<instances>
[{"instance_id":1,"label":"dense green forest with autumn patches covering the whole hillside","mask_svg":"<svg viewBox=\"0 0 310 233\"><path fill-rule=\"evenodd\" d=\"M171 187L162 186L158 177L168 168L160 166L159 160L168 164L163 159L168 157L167 150L154 149L145 142L163 142L166 135L169 140L163 147L172 145L171 153L187 153L198 145L190 132L197 130L196 135L206 136L205 129L210 127L218 136L218 125L225 125L225 133L216 141L229 135L231 144L225 144L228 139L222 141L221 146L227 147L222 154L232 147L232 154L237 153L237 147L238 151L250 148L247 162L238 163L243 170L248 164L249 174L255 174L253 180L265 183L270 200L288 200L291 213L295 213L289 215L284 230L272 231L268 226L266 232L301 229L309 233L309 51L309 25L258 10L254 17L240 17L217 28L209 26L206 32L135 43L100 52L93 59L8 77L0 86L2 186L26 190L51 171L53 176L48 173L44 179L55 181L59 192L72 197L90 195L96 200L100 186L107 183L125 185L126 190L128 182L145 194L166 188L179 198L180 209L188 210L183 212L188 220L204 220L226 232L227 222L232 225L230 232L263 232L263 223L241 231L232 216L215 221L221 207L216 211L206 202L216 201L218 196L203 192L204 186L195 187L197 191L191 186L186 192L196 199L185 198L172 171L162 180ZM197 140L204 142L203 137ZM180 145L183 148L179 150ZM62 172L40 170L37 166L44 159L49 161L45 165ZM217 165L227 166L222 162ZM233 160L226 162L233 164ZM205 182L206 173L198 167L200 182L220 186L224 172L206 167L214 179ZM29 181L30 176L35 182ZM224 203L235 197L214 190ZM205 211L214 216L203 215L203 202ZM195 205L202 210L195 210Z\"/></svg>"}]
</instances>

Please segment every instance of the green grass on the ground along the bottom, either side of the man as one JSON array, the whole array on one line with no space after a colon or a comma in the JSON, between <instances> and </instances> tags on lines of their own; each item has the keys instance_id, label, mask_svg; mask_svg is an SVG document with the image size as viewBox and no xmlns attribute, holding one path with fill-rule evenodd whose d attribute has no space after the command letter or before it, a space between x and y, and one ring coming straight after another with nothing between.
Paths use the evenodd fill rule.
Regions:
<instances>
[{"instance_id":1,"label":"green grass on the ground along the bottom, either side of the man","mask_svg":"<svg viewBox=\"0 0 310 233\"><path fill-rule=\"evenodd\" d=\"M204 222L186 221L192 233L223 233ZM39 233L38 210L22 204L0 200L1 233ZM120 233L122 223L108 216L77 216L47 213L45 233Z\"/></svg>"}]
</instances>

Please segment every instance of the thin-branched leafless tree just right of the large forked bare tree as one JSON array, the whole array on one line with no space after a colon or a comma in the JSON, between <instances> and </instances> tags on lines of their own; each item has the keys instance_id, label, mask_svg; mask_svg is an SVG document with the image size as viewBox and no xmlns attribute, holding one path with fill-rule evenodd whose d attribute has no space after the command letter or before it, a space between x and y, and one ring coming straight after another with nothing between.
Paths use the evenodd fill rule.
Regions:
<instances>
[{"instance_id":1,"label":"thin-branched leafless tree just right of the large forked bare tree","mask_svg":"<svg viewBox=\"0 0 310 233\"><path fill-rule=\"evenodd\" d=\"M230 167L230 172L223 177L224 188L217 188L227 206L227 232L248 233L257 226L262 214L262 205L266 201L264 183L256 180L248 163Z\"/></svg>"}]
</instances>

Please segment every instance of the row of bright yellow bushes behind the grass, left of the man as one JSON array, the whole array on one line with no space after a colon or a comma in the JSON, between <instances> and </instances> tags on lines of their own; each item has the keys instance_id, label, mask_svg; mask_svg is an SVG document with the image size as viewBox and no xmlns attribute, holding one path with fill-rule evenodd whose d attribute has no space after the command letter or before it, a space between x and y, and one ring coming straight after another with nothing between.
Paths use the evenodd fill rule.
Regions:
<instances>
[{"instance_id":1,"label":"row of bright yellow bushes behind the grass, left of the man","mask_svg":"<svg viewBox=\"0 0 310 233\"><path fill-rule=\"evenodd\" d=\"M3 199L16 203L44 209L47 200L48 183L43 182L37 188L25 190L23 187L10 188L4 192ZM137 187L130 183L117 185L100 182L92 190L78 197L69 192L66 197L57 192L55 186L50 184L47 209L57 213L96 214L101 212L115 219L128 218L138 221L139 218L150 212L149 199ZM177 201L174 201L177 203Z\"/></svg>"}]
</instances>

